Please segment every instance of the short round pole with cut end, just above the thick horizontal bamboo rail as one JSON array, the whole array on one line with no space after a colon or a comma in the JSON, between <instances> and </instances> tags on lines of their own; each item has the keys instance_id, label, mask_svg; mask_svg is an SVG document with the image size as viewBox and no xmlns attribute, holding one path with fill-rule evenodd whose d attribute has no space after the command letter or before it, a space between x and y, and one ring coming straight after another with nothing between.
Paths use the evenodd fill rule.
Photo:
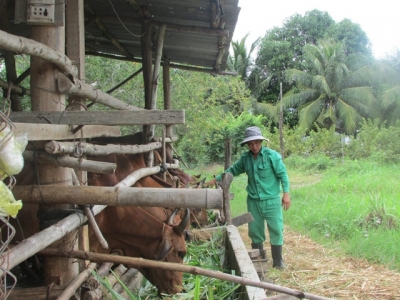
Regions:
<instances>
[{"instance_id":1,"label":"short round pole with cut end, just above the thick horizontal bamboo rail","mask_svg":"<svg viewBox=\"0 0 400 300\"><path fill-rule=\"evenodd\" d=\"M22 155L24 157L24 161L73 168L80 171L95 172L101 174L114 174L115 170L117 169L117 164L114 163L74 158L66 155L54 156L39 151L34 152L25 150Z\"/></svg>"}]
</instances>

